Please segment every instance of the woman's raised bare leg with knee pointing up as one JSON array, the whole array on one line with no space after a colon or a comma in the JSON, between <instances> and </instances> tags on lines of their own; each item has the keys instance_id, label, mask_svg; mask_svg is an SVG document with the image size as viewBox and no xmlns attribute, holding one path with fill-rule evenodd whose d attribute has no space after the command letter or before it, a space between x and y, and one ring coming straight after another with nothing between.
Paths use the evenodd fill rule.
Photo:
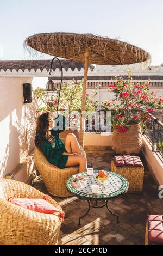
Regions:
<instances>
[{"instance_id":1,"label":"woman's raised bare leg with knee pointing up","mask_svg":"<svg viewBox=\"0 0 163 256\"><path fill-rule=\"evenodd\" d=\"M80 155L80 145L77 137L73 133L68 133L65 138L65 149L68 153L79 153Z\"/></svg>"}]
</instances>

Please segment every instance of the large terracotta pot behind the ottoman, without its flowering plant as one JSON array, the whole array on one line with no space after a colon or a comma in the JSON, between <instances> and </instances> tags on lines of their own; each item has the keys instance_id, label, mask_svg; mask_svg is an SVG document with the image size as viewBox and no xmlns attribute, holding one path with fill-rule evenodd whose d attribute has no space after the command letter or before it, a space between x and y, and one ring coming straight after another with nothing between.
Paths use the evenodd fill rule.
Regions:
<instances>
[{"instance_id":1,"label":"large terracotta pot behind the ottoman, without its flowering plant","mask_svg":"<svg viewBox=\"0 0 163 256\"><path fill-rule=\"evenodd\" d=\"M142 149L141 125L128 125L127 132L114 129L112 136L113 148L117 154L139 154Z\"/></svg>"}]
</instances>

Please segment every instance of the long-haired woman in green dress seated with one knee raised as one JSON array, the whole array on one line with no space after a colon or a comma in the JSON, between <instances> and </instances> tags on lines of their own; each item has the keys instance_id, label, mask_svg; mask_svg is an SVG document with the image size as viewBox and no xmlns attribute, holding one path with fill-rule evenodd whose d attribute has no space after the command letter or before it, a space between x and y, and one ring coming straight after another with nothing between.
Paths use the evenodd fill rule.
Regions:
<instances>
[{"instance_id":1,"label":"long-haired woman in green dress seated with one knee raised","mask_svg":"<svg viewBox=\"0 0 163 256\"><path fill-rule=\"evenodd\" d=\"M51 113L41 114L37 119L35 145L43 152L49 163L60 169L79 165L79 172L85 172L87 161L81 153L76 136L68 133L65 144L59 138L59 133L64 129L65 117L63 115L59 114L53 120Z\"/></svg>"}]
</instances>

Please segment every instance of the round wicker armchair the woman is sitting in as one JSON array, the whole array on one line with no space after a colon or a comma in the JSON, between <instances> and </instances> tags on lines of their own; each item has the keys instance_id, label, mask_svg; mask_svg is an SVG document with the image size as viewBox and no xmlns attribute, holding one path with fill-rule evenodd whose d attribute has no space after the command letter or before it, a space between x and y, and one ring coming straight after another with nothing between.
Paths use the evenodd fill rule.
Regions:
<instances>
[{"instance_id":1,"label":"round wicker armchair the woman is sitting in","mask_svg":"<svg viewBox=\"0 0 163 256\"><path fill-rule=\"evenodd\" d=\"M82 154L85 155L84 149L82 149ZM48 193L57 197L71 196L66 189L66 181L73 174L79 173L78 166L64 169L54 167L37 147L34 149L34 160Z\"/></svg>"}]
</instances>

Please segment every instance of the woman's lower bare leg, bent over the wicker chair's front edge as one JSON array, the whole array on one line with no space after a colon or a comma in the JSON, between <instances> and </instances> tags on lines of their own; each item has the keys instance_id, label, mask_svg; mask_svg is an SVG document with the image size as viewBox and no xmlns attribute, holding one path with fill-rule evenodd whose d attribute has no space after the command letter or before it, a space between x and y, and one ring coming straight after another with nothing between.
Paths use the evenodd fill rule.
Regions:
<instances>
[{"instance_id":1,"label":"woman's lower bare leg, bent over the wicker chair's front edge","mask_svg":"<svg viewBox=\"0 0 163 256\"><path fill-rule=\"evenodd\" d=\"M66 167L79 165L79 172L86 171L86 157L85 156L68 156Z\"/></svg>"}]
</instances>

